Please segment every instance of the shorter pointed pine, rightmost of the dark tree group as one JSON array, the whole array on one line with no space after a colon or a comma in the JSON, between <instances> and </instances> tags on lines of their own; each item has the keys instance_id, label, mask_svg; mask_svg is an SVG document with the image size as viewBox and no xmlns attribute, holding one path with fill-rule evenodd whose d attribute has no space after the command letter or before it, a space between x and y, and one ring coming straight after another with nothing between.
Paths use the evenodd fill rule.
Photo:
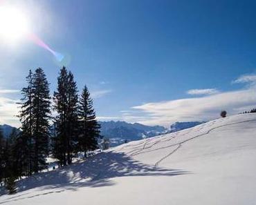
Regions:
<instances>
[{"instance_id":1,"label":"shorter pointed pine, rightmost of the dark tree group","mask_svg":"<svg viewBox=\"0 0 256 205\"><path fill-rule=\"evenodd\" d=\"M79 148L84 152L84 157L86 157L88 150L97 148L98 137L100 137L100 125L95 119L93 99L91 99L86 86L82 90L78 113L80 119Z\"/></svg>"}]
</instances>

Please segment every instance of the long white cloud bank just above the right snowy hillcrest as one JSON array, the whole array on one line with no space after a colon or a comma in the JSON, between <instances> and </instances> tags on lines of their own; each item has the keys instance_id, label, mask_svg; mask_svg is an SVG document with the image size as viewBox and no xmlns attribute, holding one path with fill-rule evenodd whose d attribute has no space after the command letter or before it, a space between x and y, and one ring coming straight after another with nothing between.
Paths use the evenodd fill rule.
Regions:
<instances>
[{"instance_id":1,"label":"long white cloud bank just above the right snowy hillcrest","mask_svg":"<svg viewBox=\"0 0 256 205\"><path fill-rule=\"evenodd\" d=\"M142 124L170 126L175 121L207 121L219 117L221 110L228 114L237 114L241 108L256 106L256 90L246 89L222 92L215 95L176 99L148 103L133 108L148 115Z\"/></svg>"}]
</instances>

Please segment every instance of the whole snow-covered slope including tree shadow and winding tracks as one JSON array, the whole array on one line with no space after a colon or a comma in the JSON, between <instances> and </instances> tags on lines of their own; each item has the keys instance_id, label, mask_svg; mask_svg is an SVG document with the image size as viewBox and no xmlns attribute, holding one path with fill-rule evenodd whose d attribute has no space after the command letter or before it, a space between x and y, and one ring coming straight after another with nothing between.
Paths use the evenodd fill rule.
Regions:
<instances>
[{"instance_id":1,"label":"whole snow-covered slope including tree shadow and winding tracks","mask_svg":"<svg viewBox=\"0 0 256 205\"><path fill-rule=\"evenodd\" d=\"M256 115L131 141L18 186L0 204L256 204Z\"/></svg>"}]
</instances>

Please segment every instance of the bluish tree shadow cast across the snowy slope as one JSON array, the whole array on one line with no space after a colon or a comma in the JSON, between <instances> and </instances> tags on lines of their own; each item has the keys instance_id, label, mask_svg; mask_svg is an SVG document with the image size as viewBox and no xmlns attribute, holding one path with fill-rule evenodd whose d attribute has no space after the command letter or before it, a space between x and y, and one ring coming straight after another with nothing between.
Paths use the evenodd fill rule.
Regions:
<instances>
[{"instance_id":1,"label":"bluish tree shadow cast across the snowy slope","mask_svg":"<svg viewBox=\"0 0 256 205\"><path fill-rule=\"evenodd\" d=\"M19 188L18 196L14 195L11 198L16 200L15 197L26 195L25 193L21 194L21 191L27 191L31 188L41 188L42 191L51 190L50 192L39 194L46 195L60 193L65 190L76 191L77 188L82 186L112 186L115 184L111 180L113 177L174 176L184 174L188 174L188 172L143 164L124 153L99 153L84 162L77 162L71 166L65 166L48 173L39 173L26 179L21 179L21 181L17 182ZM58 188L57 191L54 191L54 188ZM37 195L30 197L35 196ZM0 202L0 204L2 203Z\"/></svg>"}]
</instances>

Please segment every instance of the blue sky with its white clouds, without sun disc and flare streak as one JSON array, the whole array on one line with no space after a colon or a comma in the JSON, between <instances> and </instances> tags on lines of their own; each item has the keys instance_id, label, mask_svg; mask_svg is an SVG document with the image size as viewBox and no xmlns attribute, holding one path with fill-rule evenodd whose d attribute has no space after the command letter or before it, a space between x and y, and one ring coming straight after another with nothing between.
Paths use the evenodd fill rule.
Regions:
<instances>
[{"instance_id":1,"label":"blue sky with its white clouds, without sun disc and flare streak","mask_svg":"<svg viewBox=\"0 0 256 205\"><path fill-rule=\"evenodd\" d=\"M31 30L66 56L100 120L168 126L256 106L255 1L8 3L23 8ZM44 68L53 94L62 65L31 41L0 41L0 123L17 126L15 90L25 86L28 69Z\"/></svg>"}]
</instances>

